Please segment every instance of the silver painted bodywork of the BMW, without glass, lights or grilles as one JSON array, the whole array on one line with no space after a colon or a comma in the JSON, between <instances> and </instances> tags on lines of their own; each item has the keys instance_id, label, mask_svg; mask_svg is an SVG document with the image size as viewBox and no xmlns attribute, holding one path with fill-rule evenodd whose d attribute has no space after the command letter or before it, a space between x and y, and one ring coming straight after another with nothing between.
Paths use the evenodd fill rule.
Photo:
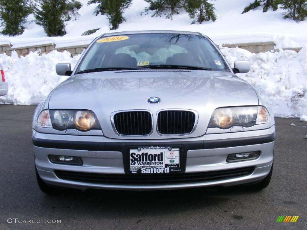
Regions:
<instances>
[{"instance_id":1,"label":"silver painted bodywork of the BMW, without glass, lights or grilles","mask_svg":"<svg viewBox=\"0 0 307 230\"><path fill-rule=\"evenodd\" d=\"M111 35L126 35L137 33L185 33L196 34L194 32L180 31L135 31L135 32L116 32L95 38L89 47L83 52L76 67L86 55L91 45L100 37ZM200 34L202 35L202 34ZM202 35L204 36L204 35ZM211 41L207 36L205 36ZM212 41L211 41L212 42ZM217 52L223 54L212 42ZM67 140L67 141L94 141L94 142L113 142L129 143L139 142L142 145L144 140L153 145L170 141L189 142L194 140L223 140L229 138L257 137L275 132L274 116L271 108L259 96L257 90L247 82L239 79L233 74L229 63L227 67L230 72L218 71L190 71L190 72L161 72L161 71L142 71L126 72L107 71L88 74L71 75L66 81L57 86L44 103L37 106L33 116L33 137L46 140ZM76 67L74 71L76 70ZM191 86L192 85L192 86ZM156 95L161 98L158 104L150 104L146 100L148 97ZM39 113L44 109L89 109L95 112L102 132L99 135L85 132L84 135L67 135L59 132L49 132L48 128L39 129L35 124ZM214 109L225 106L265 106L272 118L271 123L255 125L244 128L243 132L231 132L226 129L208 128L208 122ZM153 133L149 136L127 137L119 136L112 128L110 121L111 114L119 110L149 110L153 114L153 119L161 109L192 109L197 111L199 118L194 132L185 136L161 136L157 132L156 124L153 123ZM214 129L214 130L213 130ZM57 131L57 130L56 130ZM103 136L104 135L104 136ZM128 185L103 185L72 182L61 180L55 176L53 170L72 170L96 173L115 173L123 174L122 153L116 151L96 151L96 156L91 156L86 150L65 149L65 155L80 156L84 160L84 165L60 165L53 164L48 159L48 154L63 155L60 149L41 148L34 146L35 164L38 173L43 180L58 186L67 186L80 189L104 188L104 189L126 189L126 190L160 190L178 189L199 186L223 185L230 186L247 182L258 181L264 178L270 171L273 162L274 142L265 144L255 144L231 148L200 149L189 150L187 152L186 173L200 171L215 171L236 167L255 166L253 174L249 176L220 180L214 182L180 184L180 185L154 185L154 186L128 186ZM227 163L228 154L261 151L258 159L244 162Z\"/></svg>"}]
</instances>

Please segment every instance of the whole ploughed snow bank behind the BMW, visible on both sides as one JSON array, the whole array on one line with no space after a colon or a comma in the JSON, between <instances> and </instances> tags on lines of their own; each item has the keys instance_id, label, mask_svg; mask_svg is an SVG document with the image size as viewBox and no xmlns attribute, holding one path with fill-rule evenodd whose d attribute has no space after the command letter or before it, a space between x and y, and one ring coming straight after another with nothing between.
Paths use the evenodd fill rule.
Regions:
<instances>
[{"instance_id":1,"label":"whole ploughed snow bank behind the BMW, visible on both sides","mask_svg":"<svg viewBox=\"0 0 307 230\"><path fill-rule=\"evenodd\" d=\"M232 67L236 60L251 62L251 71L238 76L258 90L276 115L307 114L307 45L299 53L280 50L252 54L240 48L222 48L221 51ZM56 74L56 63L69 62L73 68L79 58L80 55L71 58L69 52L57 51L42 56L31 52L21 58L16 52L12 56L0 54L0 63L9 82L8 95L0 97L0 103L42 102L55 86L67 79Z\"/></svg>"}]
</instances>

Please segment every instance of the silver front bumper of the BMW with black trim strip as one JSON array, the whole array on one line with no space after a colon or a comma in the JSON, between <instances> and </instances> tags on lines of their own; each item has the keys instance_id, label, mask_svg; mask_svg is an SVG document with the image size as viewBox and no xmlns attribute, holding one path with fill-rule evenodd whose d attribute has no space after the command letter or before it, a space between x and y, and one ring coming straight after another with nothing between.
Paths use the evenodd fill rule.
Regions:
<instances>
[{"instance_id":1,"label":"silver front bumper of the BMW with black trim strip","mask_svg":"<svg viewBox=\"0 0 307 230\"><path fill-rule=\"evenodd\" d=\"M273 163L275 131L274 126L264 130L237 133L208 134L197 138L172 140L116 140L104 136L73 136L39 133L33 130L35 165L41 178L48 184L79 189L122 189L122 190L163 190L201 186L232 186L256 182L266 177ZM253 167L248 175L232 178L210 179L169 183L100 183L74 179L61 179L55 171L70 171L92 174L125 174L123 154L131 145L182 146L185 153L185 175L198 172L216 172ZM255 160L226 162L231 153L261 151ZM92 156L95 153L95 156ZM83 165L63 165L51 163L48 155L79 156Z\"/></svg>"}]
</instances>

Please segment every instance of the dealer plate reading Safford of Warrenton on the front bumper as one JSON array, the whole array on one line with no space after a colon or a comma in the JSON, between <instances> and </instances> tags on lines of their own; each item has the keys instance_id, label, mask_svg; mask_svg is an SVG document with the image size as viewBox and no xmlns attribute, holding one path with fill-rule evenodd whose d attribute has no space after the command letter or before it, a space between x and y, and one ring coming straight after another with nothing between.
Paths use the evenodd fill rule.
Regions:
<instances>
[{"instance_id":1,"label":"dealer plate reading Safford of Warrenton on the front bumper","mask_svg":"<svg viewBox=\"0 0 307 230\"><path fill-rule=\"evenodd\" d=\"M156 174L181 172L179 156L179 148L167 146L131 148L129 173Z\"/></svg>"}]
</instances>

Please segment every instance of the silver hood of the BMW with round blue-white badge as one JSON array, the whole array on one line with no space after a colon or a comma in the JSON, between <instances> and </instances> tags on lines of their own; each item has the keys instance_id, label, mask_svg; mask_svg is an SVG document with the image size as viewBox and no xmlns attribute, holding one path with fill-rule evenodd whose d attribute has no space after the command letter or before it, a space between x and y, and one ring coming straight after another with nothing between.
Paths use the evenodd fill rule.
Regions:
<instances>
[{"instance_id":1,"label":"silver hood of the BMW with round blue-white badge","mask_svg":"<svg viewBox=\"0 0 307 230\"><path fill-rule=\"evenodd\" d=\"M147 99L153 96L161 98L161 102L148 103ZM115 111L148 109L155 120L160 109L192 109L199 115L197 126L202 125L203 128L196 129L190 136L201 136L206 132L214 109L240 105L258 105L254 88L235 75L220 71L132 70L87 73L72 76L62 82L52 91L49 99L49 109L94 111L104 135L111 138L122 138L111 127L110 115Z\"/></svg>"}]
</instances>

